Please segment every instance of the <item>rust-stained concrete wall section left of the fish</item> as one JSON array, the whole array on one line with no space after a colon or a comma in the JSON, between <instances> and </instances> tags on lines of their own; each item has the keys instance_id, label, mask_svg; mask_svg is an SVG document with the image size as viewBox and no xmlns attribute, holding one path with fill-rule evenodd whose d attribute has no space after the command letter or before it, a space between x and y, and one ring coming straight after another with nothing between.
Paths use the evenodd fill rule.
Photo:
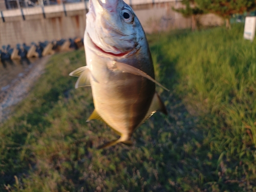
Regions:
<instances>
[{"instance_id":1,"label":"rust-stained concrete wall section left of the fish","mask_svg":"<svg viewBox=\"0 0 256 192\"><path fill-rule=\"evenodd\" d=\"M45 17L41 7L23 9L25 20L19 9L5 11L5 22L0 16L0 46L83 36L86 28L83 3L66 5L67 16L63 5L44 9Z\"/></svg>"}]
</instances>

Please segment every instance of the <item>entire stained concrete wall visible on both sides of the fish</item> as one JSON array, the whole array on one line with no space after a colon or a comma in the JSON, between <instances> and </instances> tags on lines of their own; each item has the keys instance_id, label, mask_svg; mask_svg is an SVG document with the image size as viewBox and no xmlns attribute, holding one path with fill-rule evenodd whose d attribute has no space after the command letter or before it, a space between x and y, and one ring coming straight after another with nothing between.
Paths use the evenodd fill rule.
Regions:
<instances>
[{"instance_id":1,"label":"entire stained concrete wall visible on both sides of the fish","mask_svg":"<svg viewBox=\"0 0 256 192\"><path fill-rule=\"evenodd\" d=\"M0 0L2 1L2 0ZM131 0L125 0L129 3ZM135 1L135 0L132 0ZM142 1L142 0L141 0ZM143 0L145 1L145 0ZM152 1L152 0L146 0ZM164 1L164 0L154 0ZM166 0L165 0L166 1ZM65 6L65 7L64 7ZM86 4L84 2L23 8L2 11L0 14L0 46L17 43L30 45L31 42L59 40L61 38L83 37L86 28ZM145 32L151 33L170 29L191 27L191 18L184 18L172 10L179 8L179 1L133 5ZM201 16L204 25L221 25L222 19L215 15ZM0 47L0 49L1 49Z\"/></svg>"}]
</instances>

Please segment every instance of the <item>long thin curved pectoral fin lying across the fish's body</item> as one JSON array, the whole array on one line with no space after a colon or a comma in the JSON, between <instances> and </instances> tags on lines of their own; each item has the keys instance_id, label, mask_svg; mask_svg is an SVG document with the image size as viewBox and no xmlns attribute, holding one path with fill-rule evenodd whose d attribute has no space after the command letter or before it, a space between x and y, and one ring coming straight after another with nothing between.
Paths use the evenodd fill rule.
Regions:
<instances>
[{"instance_id":1,"label":"long thin curved pectoral fin lying across the fish's body","mask_svg":"<svg viewBox=\"0 0 256 192\"><path fill-rule=\"evenodd\" d=\"M155 79L153 79L150 75L148 75L145 72L139 70L138 68L135 68L133 66L127 65L127 64L122 63L122 62L115 62L115 65L117 66L117 69L119 69L120 71L123 71L125 73L132 73L134 75L140 75L140 76L145 77L145 78L153 81L154 83L158 84L158 86L160 86L161 88L165 89L166 91L170 91L167 88L165 88L164 86L162 86Z\"/></svg>"}]
</instances>

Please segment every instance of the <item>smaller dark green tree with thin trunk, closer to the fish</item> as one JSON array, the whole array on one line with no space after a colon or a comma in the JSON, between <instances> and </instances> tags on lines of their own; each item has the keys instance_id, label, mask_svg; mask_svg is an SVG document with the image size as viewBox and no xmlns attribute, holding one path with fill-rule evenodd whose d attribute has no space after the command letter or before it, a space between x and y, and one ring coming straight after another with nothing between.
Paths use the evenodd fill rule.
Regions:
<instances>
[{"instance_id":1,"label":"smaller dark green tree with thin trunk, closer to the fish","mask_svg":"<svg viewBox=\"0 0 256 192\"><path fill-rule=\"evenodd\" d=\"M202 14L203 11L197 7L195 0L183 0L181 3L186 7L179 9L173 8L173 10L181 13L184 17L192 16L192 30L194 31L197 28L196 15Z\"/></svg>"}]
</instances>

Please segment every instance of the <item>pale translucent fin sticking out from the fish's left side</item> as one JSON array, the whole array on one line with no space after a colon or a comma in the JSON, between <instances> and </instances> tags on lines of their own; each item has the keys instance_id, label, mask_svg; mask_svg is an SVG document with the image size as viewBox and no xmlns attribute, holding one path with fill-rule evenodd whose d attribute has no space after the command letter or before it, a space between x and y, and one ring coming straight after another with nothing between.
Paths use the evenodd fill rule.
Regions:
<instances>
[{"instance_id":1,"label":"pale translucent fin sticking out from the fish's left side","mask_svg":"<svg viewBox=\"0 0 256 192\"><path fill-rule=\"evenodd\" d=\"M70 76L78 77L75 88L91 86L90 84L90 69L87 66L80 67L69 74Z\"/></svg>"}]
</instances>

